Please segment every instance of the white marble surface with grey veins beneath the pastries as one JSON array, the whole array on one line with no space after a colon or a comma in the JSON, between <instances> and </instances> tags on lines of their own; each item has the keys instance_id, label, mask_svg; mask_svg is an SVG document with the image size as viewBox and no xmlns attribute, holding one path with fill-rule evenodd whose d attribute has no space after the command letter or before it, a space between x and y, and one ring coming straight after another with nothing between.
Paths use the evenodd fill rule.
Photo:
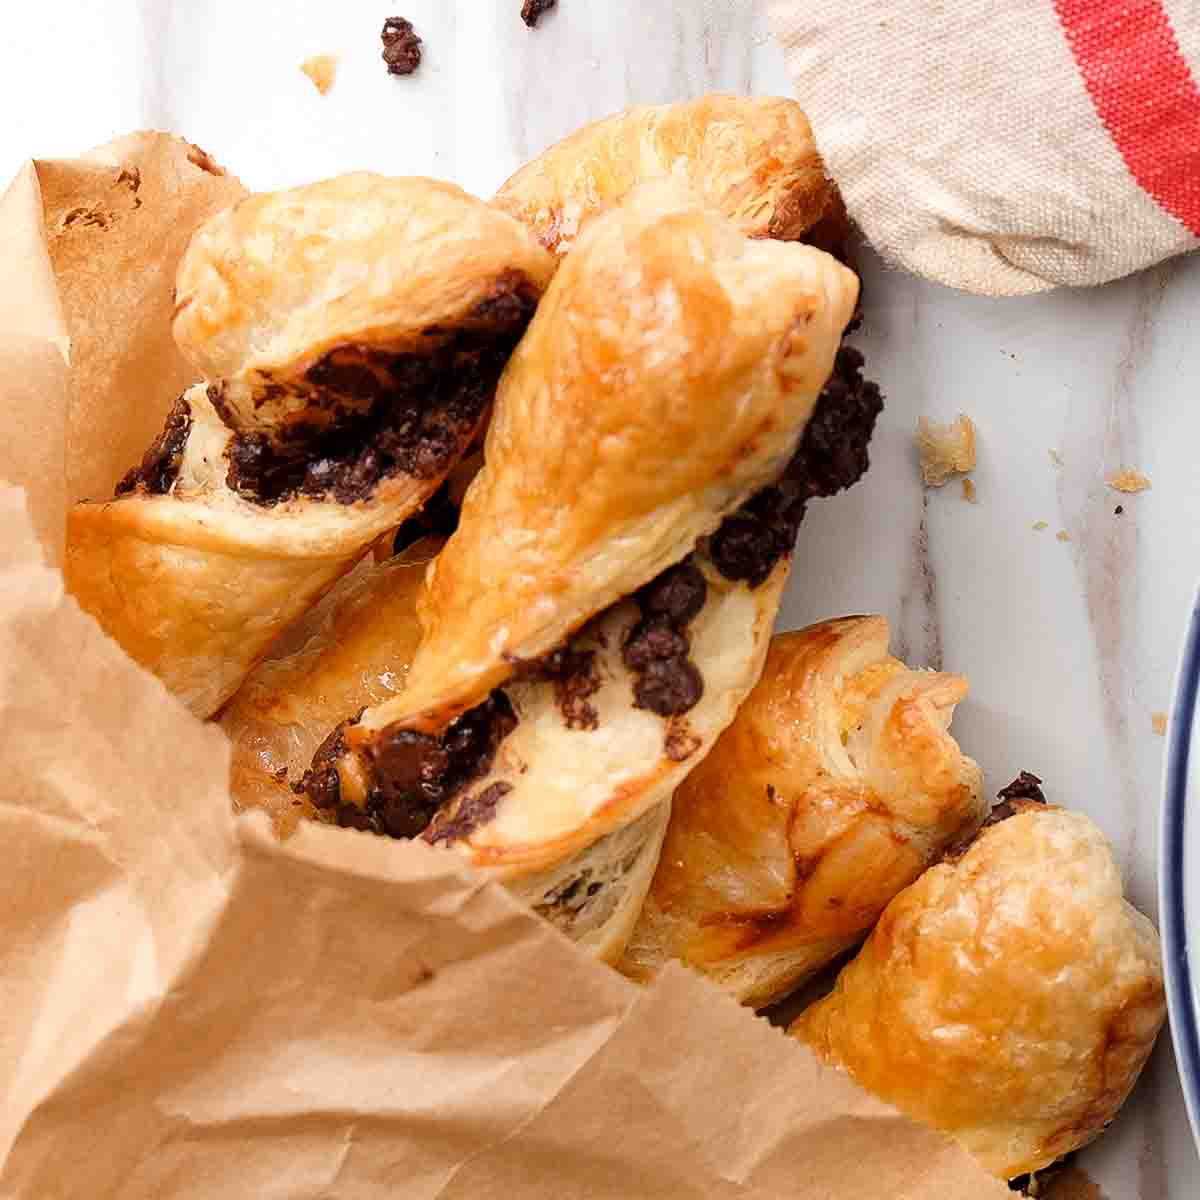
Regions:
<instances>
[{"instance_id":1,"label":"white marble surface with grey veins beneath the pastries","mask_svg":"<svg viewBox=\"0 0 1200 1200\"><path fill-rule=\"evenodd\" d=\"M548 142L625 104L791 91L761 0L560 0L536 31L518 7L60 0L7 30L0 173L156 126L253 187L368 167L486 194ZM395 12L426 40L412 79L379 62L378 29ZM325 97L296 70L317 52L342 59ZM966 672L955 730L992 787L1020 768L1043 775L1100 822L1153 912L1164 743L1151 714L1169 707L1196 580L1200 260L1007 301L889 272L869 253L864 276L860 343L888 408L868 480L810 512L788 622L882 612L911 661ZM973 505L955 486L925 494L913 461L918 414L959 410L979 427ZM1145 472L1152 491L1110 491L1122 467ZM1200 1195L1165 1039L1086 1165L1109 1200Z\"/></svg>"}]
</instances>

